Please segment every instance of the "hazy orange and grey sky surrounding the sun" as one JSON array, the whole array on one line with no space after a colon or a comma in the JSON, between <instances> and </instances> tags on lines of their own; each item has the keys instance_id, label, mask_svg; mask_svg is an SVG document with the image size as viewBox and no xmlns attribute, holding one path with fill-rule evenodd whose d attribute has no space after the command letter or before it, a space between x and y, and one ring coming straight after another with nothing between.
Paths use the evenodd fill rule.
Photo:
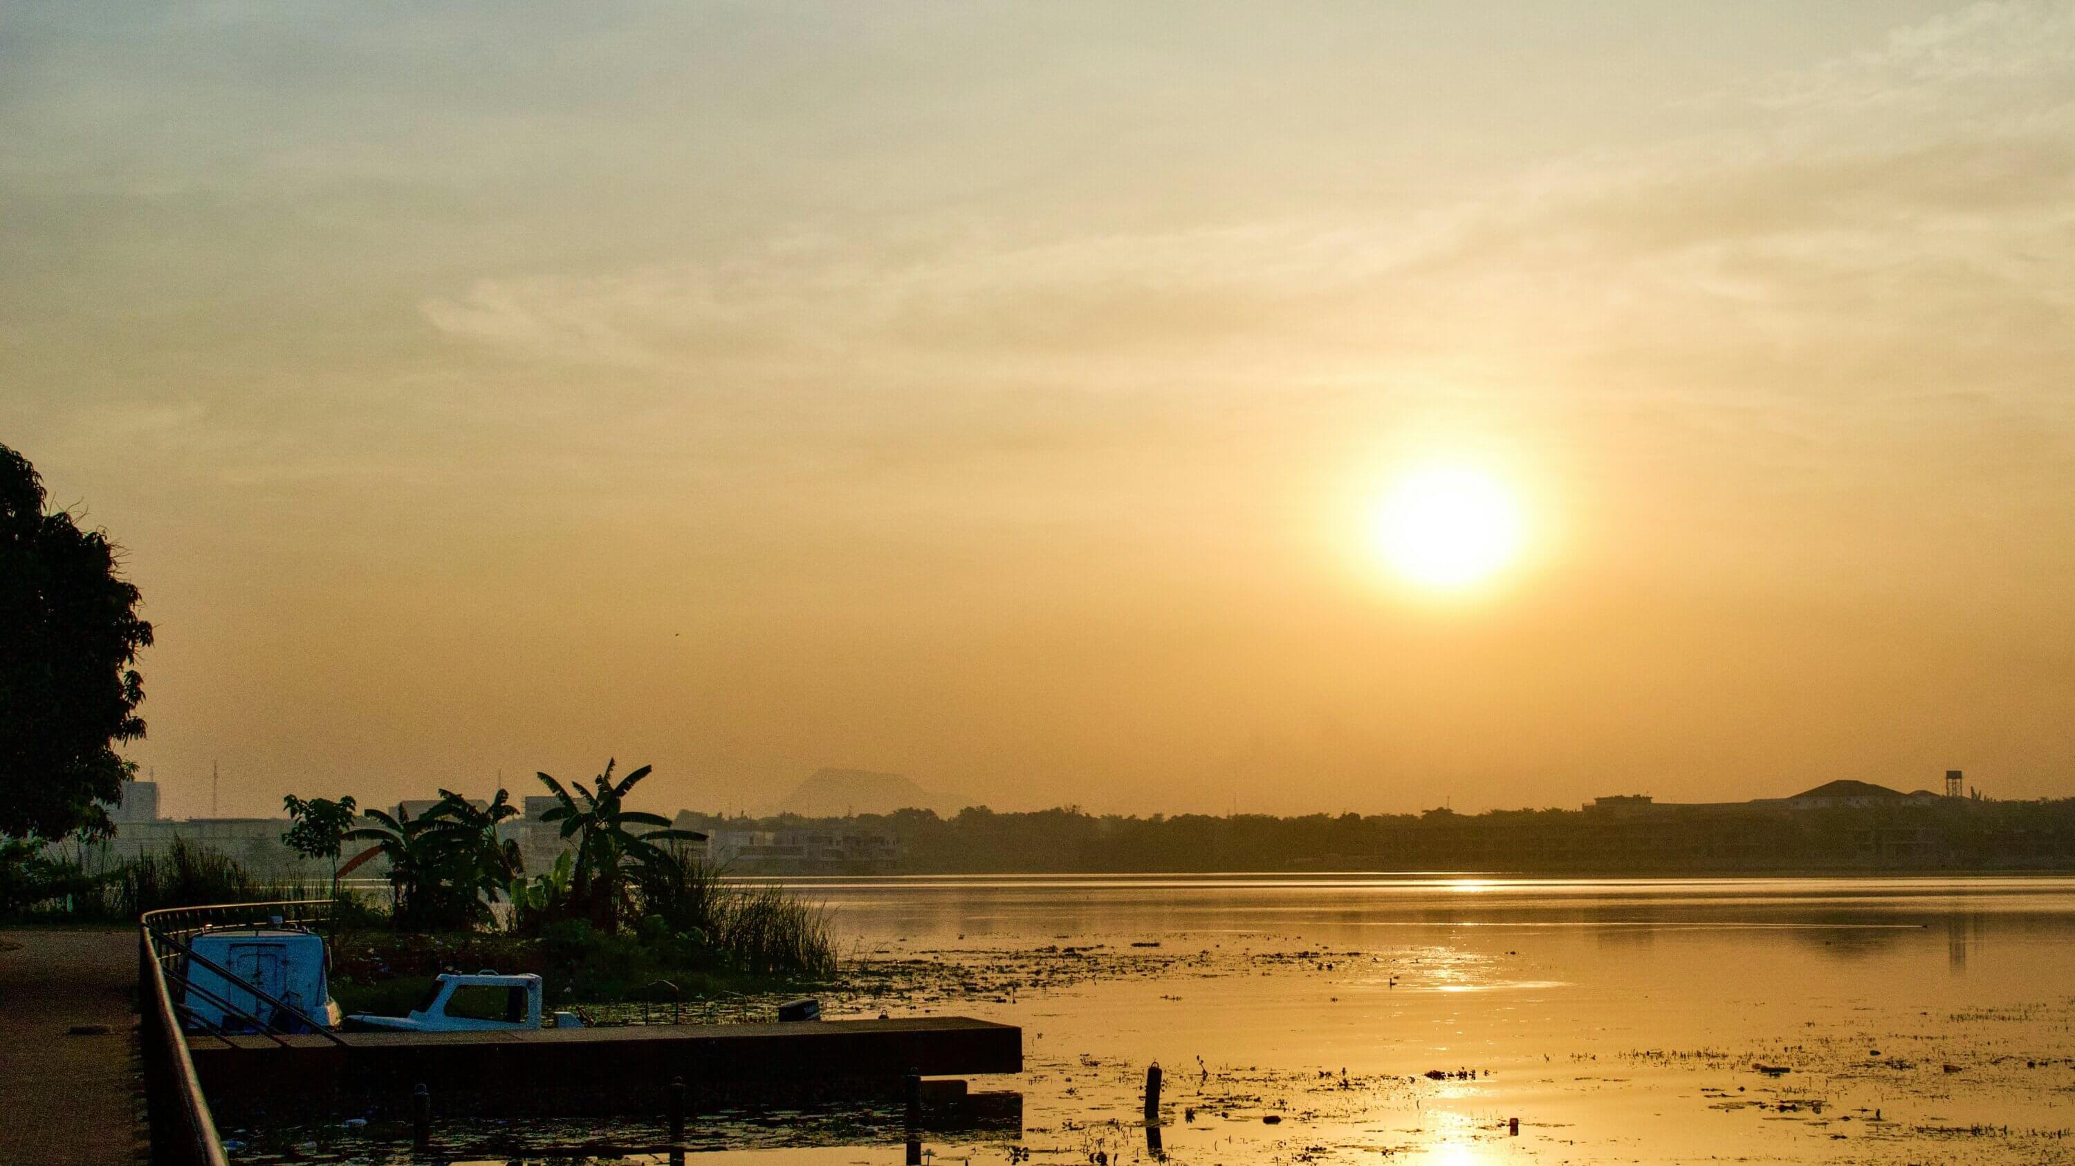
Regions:
<instances>
[{"instance_id":1,"label":"hazy orange and grey sky surrounding the sun","mask_svg":"<svg viewBox=\"0 0 2075 1166\"><path fill-rule=\"evenodd\" d=\"M174 815L2075 795L2071 309L2067 2L0 8Z\"/></svg>"}]
</instances>

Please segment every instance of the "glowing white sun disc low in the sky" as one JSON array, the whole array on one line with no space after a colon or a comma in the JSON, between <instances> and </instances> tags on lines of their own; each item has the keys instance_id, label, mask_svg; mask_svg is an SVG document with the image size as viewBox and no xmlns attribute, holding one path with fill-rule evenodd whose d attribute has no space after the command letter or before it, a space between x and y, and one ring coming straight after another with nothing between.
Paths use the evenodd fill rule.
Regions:
<instances>
[{"instance_id":1,"label":"glowing white sun disc low in the sky","mask_svg":"<svg viewBox=\"0 0 2075 1166\"><path fill-rule=\"evenodd\" d=\"M1428 463L1403 471L1376 506L1376 550L1405 581L1463 591L1519 558L1523 529L1513 492L1484 469Z\"/></svg>"}]
</instances>

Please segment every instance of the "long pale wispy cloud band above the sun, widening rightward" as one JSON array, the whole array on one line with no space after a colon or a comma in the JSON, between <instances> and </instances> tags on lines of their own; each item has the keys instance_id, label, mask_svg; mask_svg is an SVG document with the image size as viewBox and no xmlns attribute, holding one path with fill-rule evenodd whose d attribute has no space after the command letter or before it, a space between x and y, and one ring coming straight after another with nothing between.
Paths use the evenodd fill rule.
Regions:
<instances>
[{"instance_id":1,"label":"long pale wispy cloud band above the sun, widening rightward","mask_svg":"<svg viewBox=\"0 0 2075 1166\"><path fill-rule=\"evenodd\" d=\"M2075 305L2071 12L1986 4L1899 29L1691 137L1544 160L1411 214L786 237L722 261L483 278L421 311L529 355L855 382L2067 344L2036 320Z\"/></svg>"}]
</instances>

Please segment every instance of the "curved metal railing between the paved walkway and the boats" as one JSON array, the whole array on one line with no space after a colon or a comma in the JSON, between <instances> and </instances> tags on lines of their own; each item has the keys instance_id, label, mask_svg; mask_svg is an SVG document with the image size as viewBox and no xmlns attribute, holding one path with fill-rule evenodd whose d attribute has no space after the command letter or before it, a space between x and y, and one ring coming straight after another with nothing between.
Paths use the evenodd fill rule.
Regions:
<instances>
[{"instance_id":1,"label":"curved metal railing between the paved walkway and the boats","mask_svg":"<svg viewBox=\"0 0 2075 1166\"><path fill-rule=\"evenodd\" d=\"M280 1017L286 1015L309 1031L320 1031L338 1042L330 1029L313 1023L301 1010L261 992L257 985L226 973L216 963L191 950L195 934L222 925L266 925L276 917L295 923L324 919L332 903L326 898L295 903L226 903L216 907L174 907L168 911L145 911L137 919L137 1033L143 1052L145 1106L151 1118L151 1162L164 1166L228 1166L224 1143L216 1135L216 1118L210 1114L210 1100L201 1095L201 1079L195 1075L195 1058L187 1048L185 1019L191 1015L187 994L197 994L251 1023L259 1033L284 1044L274 1035ZM251 992L255 1000L272 1004L268 1019L232 1006L222 996L189 981L189 961L199 963L239 983L232 992ZM174 985L181 988L178 998ZM257 1008L257 1004L255 1004Z\"/></svg>"}]
</instances>

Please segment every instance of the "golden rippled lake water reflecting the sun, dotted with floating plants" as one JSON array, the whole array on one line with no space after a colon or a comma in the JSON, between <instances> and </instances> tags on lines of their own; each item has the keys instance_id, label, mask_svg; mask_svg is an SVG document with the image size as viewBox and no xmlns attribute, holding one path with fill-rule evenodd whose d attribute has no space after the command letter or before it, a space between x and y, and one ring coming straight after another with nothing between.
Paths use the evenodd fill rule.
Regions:
<instances>
[{"instance_id":1,"label":"golden rippled lake water reflecting the sun, dotted with floating plants","mask_svg":"<svg viewBox=\"0 0 2075 1166\"><path fill-rule=\"evenodd\" d=\"M1189 1164L2075 1162L2067 878L795 886L861 973L832 1017L1023 1025L1027 1071L973 1081L1021 1116L936 1162L1152 1160L1152 1062ZM832 1114L701 1135L712 1164L905 1158Z\"/></svg>"}]
</instances>

